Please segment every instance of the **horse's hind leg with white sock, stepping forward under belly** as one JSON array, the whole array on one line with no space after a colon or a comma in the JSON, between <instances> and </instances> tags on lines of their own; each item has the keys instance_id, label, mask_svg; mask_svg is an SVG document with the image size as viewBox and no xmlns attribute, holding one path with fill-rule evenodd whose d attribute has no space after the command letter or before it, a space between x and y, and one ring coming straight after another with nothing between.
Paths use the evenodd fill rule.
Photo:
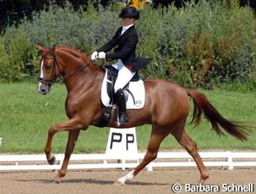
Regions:
<instances>
[{"instance_id":1,"label":"horse's hind leg with white sock, stepping forward under belly","mask_svg":"<svg viewBox=\"0 0 256 194\"><path fill-rule=\"evenodd\" d=\"M126 176L119 178L115 184L125 184L126 181L130 181L133 177L135 177L140 171L145 168L146 165L148 165L151 161L157 158L157 154L159 152L159 145L164 140L164 138L168 135L168 132L163 130L156 130L154 127L150 140L147 152L145 154L144 159L140 162L140 164L132 170L130 173L126 174Z\"/></svg>"}]
</instances>

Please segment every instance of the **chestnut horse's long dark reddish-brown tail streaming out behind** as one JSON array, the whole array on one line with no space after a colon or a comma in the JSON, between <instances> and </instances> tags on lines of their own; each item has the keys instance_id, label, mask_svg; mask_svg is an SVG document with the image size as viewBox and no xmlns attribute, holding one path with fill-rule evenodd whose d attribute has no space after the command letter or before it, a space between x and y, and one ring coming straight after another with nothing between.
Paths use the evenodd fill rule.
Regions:
<instances>
[{"instance_id":1,"label":"chestnut horse's long dark reddish-brown tail streaming out behind","mask_svg":"<svg viewBox=\"0 0 256 194\"><path fill-rule=\"evenodd\" d=\"M230 135L244 141L248 139L248 134L244 132L244 125L239 125L234 121L229 121L220 115L219 111L212 106L204 94L196 90L187 90L187 95L192 97L194 102L194 111L191 123L198 125L201 121L201 114L204 113L206 120L211 122L212 130L218 135L224 135L220 126Z\"/></svg>"}]
</instances>

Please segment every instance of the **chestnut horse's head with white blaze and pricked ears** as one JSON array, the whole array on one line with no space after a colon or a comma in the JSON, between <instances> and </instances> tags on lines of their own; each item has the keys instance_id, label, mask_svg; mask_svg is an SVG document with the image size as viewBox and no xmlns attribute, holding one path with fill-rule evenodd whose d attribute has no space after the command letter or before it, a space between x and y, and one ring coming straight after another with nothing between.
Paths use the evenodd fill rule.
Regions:
<instances>
[{"instance_id":1,"label":"chestnut horse's head with white blaze and pricked ears","mask_svg":"<svg viewBox=\"0 0 256 194\"><path fill-rule=\"evenodd\" d=\"M38 92L47 94L50 92L50 87L60 76L59 65L55 55L55 45L49 49L43 48L40 45L36 45L36 48L42 54L40 59L40 83Z\"/></svg>"}]
</instances>

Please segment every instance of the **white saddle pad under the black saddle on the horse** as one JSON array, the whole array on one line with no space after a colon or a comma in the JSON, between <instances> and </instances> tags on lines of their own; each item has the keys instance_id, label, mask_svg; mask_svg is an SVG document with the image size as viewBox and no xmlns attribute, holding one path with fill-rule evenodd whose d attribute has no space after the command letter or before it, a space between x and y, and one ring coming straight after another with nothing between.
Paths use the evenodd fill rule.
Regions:
<instances>
[{"instance_id":1,"label":"white saddle pad under the black saddle on the horse","mask_svg":"<svg viewBox=\"0 0 256 194\"><path fill-rule=\"evenodd\" d=\"M105 77L102 82L102 92L101 92L102 104L104 106L110 106L109 103L111 101L110 97L108 97L108 94L107 94L107 82L110 82L110 81L107 80L107 69L106 69ZM143 106L145 105L144 82L141 79L137 82L130 82L129 91L132 93L134 98L130 95L130 92L128 92L128 100L126 102L126 108L127 109L143 108Z\"/></svg>"}]
</instances>

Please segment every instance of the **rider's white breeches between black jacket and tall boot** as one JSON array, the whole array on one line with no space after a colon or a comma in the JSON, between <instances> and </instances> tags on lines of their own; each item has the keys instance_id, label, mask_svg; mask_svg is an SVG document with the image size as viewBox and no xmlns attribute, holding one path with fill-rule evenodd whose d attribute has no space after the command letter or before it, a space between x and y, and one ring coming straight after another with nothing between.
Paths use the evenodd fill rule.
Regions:
<instances>
[{"instance_id":1,"label":"rider's white breeches between black jacket and tall boot","mask_svg":"<svg viewBox=\"0 0 256 194\"><path fill-rule=\"evenodd\" d=\"M114 90L116 93L117 90L124 88L126 84L130 82L130 79L135 75L135 72L127 69L120 59L117 60L116 64L112 64L112 66L118 70L118 75L114 86Z\"/></svg>"}]
</instances>

